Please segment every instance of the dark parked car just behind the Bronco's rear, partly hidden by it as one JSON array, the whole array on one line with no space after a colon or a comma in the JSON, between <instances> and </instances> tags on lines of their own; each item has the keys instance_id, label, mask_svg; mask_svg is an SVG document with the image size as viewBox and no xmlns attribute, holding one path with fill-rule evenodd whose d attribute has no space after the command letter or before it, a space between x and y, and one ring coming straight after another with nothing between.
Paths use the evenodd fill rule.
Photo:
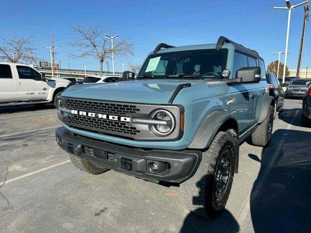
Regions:
<instances>
[{"instance_id":1,"label":"dark parked car just behind the Bronco's rear, partly hidden by it","mask_svg":"<svg viewBox=\"0 0 311 233\"><path fill-rule=\"evenodd\" d=\"M275 99L274 116L276 117L276 111L281 112L283 110L284 91L274 73L267 73L267 83L269 84L269 95Z\"/></svg>"}]
</instances>

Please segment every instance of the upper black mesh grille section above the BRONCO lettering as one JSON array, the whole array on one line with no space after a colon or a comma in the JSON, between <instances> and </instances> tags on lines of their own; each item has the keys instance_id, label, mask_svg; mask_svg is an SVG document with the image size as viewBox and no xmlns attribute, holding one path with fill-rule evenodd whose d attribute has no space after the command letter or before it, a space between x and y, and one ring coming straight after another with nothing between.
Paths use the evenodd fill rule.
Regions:
<instances>
[{"instance_id":1,"label":"upper black mesh grille section above the BRONCO lettering","mask_svg":"<svg viewBox=\"0 0 311 233\"><path fill-rule=\"evenodd\" d=\"M65 103L69 109L79 109L80 111L92 113L107 113L124 116L124 114L135 114L139 112L139 109L135 105L128 104L72 99L67 99Z\"/></svg>"}]
</instances>

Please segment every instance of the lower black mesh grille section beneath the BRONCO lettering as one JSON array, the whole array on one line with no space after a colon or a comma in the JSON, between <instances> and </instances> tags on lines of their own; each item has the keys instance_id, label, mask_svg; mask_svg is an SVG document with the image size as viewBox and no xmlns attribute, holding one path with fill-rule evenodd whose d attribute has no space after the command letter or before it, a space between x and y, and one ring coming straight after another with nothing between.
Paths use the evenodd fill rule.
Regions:
<instances>
[{"instance_id":1,"label":"lower black mesh grille section beneath the BRONCO lettering","mask_svg":"<svg viewBox=\"0 0 311 233\"><path fill-rule=\"evenodd\" d=\"M140 133L136 127L127 126L124 122L94 118L90 116L72 115L67 117L70 125L91 129L95 131L105 131L111 133L124 133L127 135L136 135Z\"/></svg>"}]
</instances>

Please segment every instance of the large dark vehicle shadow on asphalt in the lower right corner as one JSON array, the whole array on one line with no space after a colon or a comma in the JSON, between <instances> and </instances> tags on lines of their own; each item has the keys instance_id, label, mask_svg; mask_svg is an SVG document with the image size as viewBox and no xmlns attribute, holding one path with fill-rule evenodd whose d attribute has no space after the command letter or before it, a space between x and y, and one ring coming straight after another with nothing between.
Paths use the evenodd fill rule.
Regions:
<instances>
[{"instance_id":1,"label":"large dark vehicle shadow on asphalt in the lower right corner","mask_svg":"<svg viewBox=\"0 0 311 233\"><path fill-rule=\"evenodd\" d=\"M250 197L256 233L311 231L311 133L280 129L273 133L274 145L282 137L280 150L277 146L264 148L261 161L249 154L261 163ZM274 164L272 155L277 156ZM267 173L269 166L272 169Z\"/></svg>"}]
</instances>

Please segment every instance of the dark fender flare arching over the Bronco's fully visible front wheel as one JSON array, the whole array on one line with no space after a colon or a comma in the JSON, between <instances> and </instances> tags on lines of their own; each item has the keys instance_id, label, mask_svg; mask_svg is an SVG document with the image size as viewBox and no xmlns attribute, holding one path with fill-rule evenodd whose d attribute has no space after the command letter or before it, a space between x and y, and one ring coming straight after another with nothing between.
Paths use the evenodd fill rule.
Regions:
<instances>
[{"instance_id":1,"label":"dark fender flare arching over the Bronco's fully visible front wheel","mask_svg":"<svg viewBox=\"0 0 311 233\"><path fill-rule=\"evenodd\" d=\"M228 119L237 120L226 111L216 110L209 114L200 125L199 129L195 133L192 142L190 143L190 149L206 149L212 143L214 137L218 133L220 127ZM238 133L238 132L237 132Z\"/></svg>"}]
</instances>

